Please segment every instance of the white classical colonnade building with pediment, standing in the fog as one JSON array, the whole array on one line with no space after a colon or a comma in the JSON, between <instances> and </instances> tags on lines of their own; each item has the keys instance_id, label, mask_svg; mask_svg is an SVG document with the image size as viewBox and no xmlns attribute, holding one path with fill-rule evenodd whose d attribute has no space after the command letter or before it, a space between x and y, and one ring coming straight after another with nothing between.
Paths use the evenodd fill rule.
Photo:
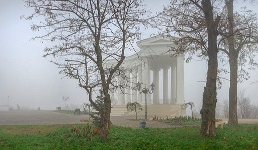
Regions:
<instances>
[{"instance_id":1,"label":"white classical colonnade building with pediment, standing in the fog","mask_svg":"<svg viewBox=\"0 0 258 150\"><path fill-rule=\"evenodd\" d=\"M131 78L131 88L112 90L111 115L126 114L125 105L128 102L142 104L144 114L145 94L136 90L136 83L143 83L141 89L153 82L155 88L152 94L147 94L148 116L179 116L185 115L184 100L184 54L171 56L169 48L175 46L170 37L156 35L136 42L140 47L137 54L127 56L122 67L130 68L126 76ZM108 65L117 63L108 60ZM125 79L117 78L118 84L126 84ZM128 83L129 84L129 83ZM151 96L153 95L153 96ZM125 112L123 112L125 111ZM127 112L128 113L128 112Z\"/></svg>"}]
</instances>

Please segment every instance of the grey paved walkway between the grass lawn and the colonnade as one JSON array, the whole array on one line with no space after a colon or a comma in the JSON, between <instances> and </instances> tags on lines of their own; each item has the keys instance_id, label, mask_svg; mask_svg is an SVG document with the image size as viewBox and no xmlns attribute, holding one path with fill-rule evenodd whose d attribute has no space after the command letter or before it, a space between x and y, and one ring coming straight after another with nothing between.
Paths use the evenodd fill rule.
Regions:
<instances>
[{"instance_id":1,"label":"grey paved walkway between the grass lawn and the colonnade","mask_svg":"<svg viewBox=\"0 0 258 150\"><path fill-rule=\"evenodd\" d=\"M138 118L145 118L139 115ZM80 124L85 123L81 119L89 119L89 115L72 115L66 113L54 112L53 110L13 110L0 111L0 125L17 125L17 124ZM149 118L151 119L151 118ZM227 119L223 119L227 120ZM135 120L135 115L111 116L111 121L115 125L139 128L139 120ZM258 119L238 119L238 123L258 123ZM146 121L146 127L164 128L176 127L174 125L152 120Z\"/></svg>"}]
</instances>

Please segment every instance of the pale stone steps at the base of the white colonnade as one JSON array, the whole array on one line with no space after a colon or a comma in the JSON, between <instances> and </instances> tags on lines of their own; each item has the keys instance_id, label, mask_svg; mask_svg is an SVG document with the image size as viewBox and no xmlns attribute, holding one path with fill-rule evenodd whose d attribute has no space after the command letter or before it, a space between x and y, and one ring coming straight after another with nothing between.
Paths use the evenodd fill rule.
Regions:
<instances>
[{"instance_id":1,"label":"pale stone steps at the base of the white colonnade","mask_svg":"<svg viewBox=\"0 0 258 150\"><path fill-rule=\"evenodd\" d=\"M112 105L111 116L121 116L134 114L126 110L126 105ZM177 110L173 109L173 105L170 104L149 104L147 105L148 117L174 117L178 116ZM142 110L137 115L145 115L145 104L142 104Z\"/></svg>"}]
</instances>

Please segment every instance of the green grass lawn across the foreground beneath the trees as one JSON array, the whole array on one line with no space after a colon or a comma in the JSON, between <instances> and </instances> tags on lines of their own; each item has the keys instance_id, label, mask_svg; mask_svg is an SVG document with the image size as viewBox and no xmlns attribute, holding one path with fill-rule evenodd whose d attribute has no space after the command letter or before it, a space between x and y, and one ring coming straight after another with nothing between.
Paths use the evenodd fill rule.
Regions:
<instances>
[{"instance_id":1,"label":"green grass lawn across the foreground beneath the trees","mask_svg":"<svg viewBox=\"0 0 258 150\"><path fill-rule=\"evenodd\" d=\"M73 136L77 125L0 125L0 149L257 149L258 124L224 125L199 137L200 126L132 129L110 126L108 140Z\"/></svg>"}]
</instances>

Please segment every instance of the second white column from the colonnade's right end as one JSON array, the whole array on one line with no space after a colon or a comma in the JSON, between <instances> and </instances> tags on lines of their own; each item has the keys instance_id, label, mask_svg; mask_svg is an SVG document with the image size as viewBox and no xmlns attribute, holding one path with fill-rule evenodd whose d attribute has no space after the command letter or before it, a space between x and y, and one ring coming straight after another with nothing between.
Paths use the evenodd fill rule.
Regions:
<instances>
[{"instance_id":1,"label":"second white column from the colonnade's right end","mask_svg":"<svg viewBox=\"0 0 258 150\"><path fill-rule=\"evenodd\" d=\"M171 65L171 98L170 104L174 104L176 101L176 68L175 64Z\"/></svg>"}]
</instances>

